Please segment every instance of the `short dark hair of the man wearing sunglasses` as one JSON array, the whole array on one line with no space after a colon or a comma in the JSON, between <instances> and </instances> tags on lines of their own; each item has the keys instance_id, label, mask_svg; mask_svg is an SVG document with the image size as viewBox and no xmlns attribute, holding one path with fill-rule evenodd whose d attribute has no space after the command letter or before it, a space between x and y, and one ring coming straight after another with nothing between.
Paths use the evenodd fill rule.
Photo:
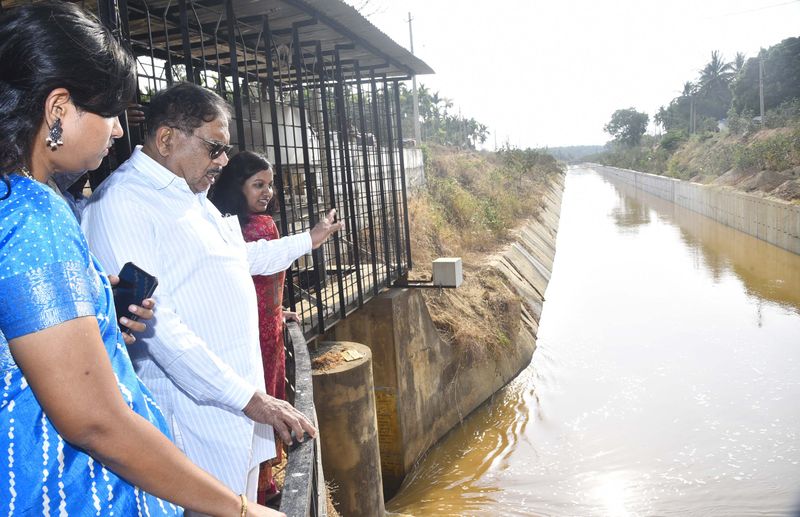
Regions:
<instances>
[{"instance_id":1,"label":"short dark hair of the man wearing sunglasses","mask_svg":"<svg viewBox=\"0 0 800 517\"><path fill-rule=\"evenodd\" d=\"M145 110L147 136L154 137L162 126L191 134L206 122L228 116L230 107L216 93L192 83L177 83L156 92Z\"/></svg>"}]
</instances>

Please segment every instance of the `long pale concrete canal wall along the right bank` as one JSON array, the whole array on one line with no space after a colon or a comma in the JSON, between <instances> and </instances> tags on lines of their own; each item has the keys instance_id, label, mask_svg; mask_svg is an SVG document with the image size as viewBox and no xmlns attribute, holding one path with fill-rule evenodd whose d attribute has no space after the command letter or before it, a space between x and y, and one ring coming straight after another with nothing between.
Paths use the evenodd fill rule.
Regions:
<instances>
[{"instance_id":1,"label":"long pale concrete canal wall along the right bank","mask_svg":"<svg viewBox=\"0 0 800 517\"><path fill-rule=\"evenodd\" d=\"M590 168L726 226L800 254L800 205L725 187L590 164Z\"/></svg>"}]
</instances>

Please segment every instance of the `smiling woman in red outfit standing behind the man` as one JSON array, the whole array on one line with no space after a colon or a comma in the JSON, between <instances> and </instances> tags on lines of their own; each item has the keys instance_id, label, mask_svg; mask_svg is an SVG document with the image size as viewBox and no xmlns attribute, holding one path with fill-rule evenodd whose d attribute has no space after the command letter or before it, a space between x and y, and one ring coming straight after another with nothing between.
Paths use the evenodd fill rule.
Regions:
<instances>
[{"instance_id":1,"label":"smiling woman in red outfit standing behind the man","mask_svg":"<svg viewBox=\"0 0 800 517\"><path fill-rule=\"evenodd\" d=\"M216 181L209 199L223 214L236 215L247 242L259 239L278 239L278 226L269 215L275 206L272 192L272 165L262 155L242 151L230 159ZM269 276L254 276L258 296L258 320L261 338L261 359L264 362L264 381L267 393L286 399L286 358L283 348L285 320L298 321L297 314L283 310L285 272ZM278 443L276 441L276 443ZM277 449L275 463L280 463ZM270 462L261 467L259 499L277 494ZM262 483L263 481L263 483Z\"/></svg>"}]
</instances>

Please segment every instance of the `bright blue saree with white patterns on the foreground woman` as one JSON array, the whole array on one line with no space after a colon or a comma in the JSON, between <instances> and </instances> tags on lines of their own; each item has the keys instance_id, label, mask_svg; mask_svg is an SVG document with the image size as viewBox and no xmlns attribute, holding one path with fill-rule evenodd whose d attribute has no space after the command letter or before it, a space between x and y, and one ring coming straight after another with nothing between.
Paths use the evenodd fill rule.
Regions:
<instances>
[{"instance_id":1,"label":"bright blue saree with white patterns on the foreground woman","mask_svg":"<svg viewBox=\"0 0 800 517\"><path fill-rule=\"evenodd\" d=\"M59 436L11 356L8 340L95 316L128 406L168 435L133 371L108 278L67 204L45 185L9 176L0 201L0 516L181 515ZM7 187L0 183L0 197Z\"/></svg>"}]
</instances>

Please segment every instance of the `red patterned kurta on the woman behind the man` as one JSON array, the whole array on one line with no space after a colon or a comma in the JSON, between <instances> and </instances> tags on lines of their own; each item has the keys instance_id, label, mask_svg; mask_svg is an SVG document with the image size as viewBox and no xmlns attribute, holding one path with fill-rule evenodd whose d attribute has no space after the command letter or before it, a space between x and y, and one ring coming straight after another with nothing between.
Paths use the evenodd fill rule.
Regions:
<instances>
[{"instance_id":1,"label":"red patterned kurta on the woman behind the man","mask_svg":"<svg viewBox=\"0 0 800 517\"><path fill-rule=\"evenodd\" d=\"M279 239L278 226L268 215L251 215L242 229L247 242ZM283 283L286 272L253 277L258 296L258 329L267 394L286 400L286 354L283 349Z\"/></svg>"}]
</instances>

